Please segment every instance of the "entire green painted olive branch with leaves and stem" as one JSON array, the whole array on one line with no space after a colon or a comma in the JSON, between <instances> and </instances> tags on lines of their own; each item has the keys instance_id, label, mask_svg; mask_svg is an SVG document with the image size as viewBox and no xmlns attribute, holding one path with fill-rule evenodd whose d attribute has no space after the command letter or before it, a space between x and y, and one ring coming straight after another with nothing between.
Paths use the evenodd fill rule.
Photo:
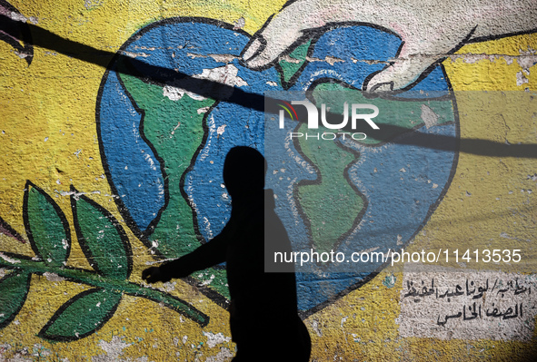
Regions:
<instances>
[{"instance_id":1,"label":"entire green painted olive branch with leaves and stem","mask_svg":"<svg viewBox=\"0 0 537 362\"><path fill-rule=\"evenodd\" d=\"M69 223L55 201L27 181L23 219L35 258L0 252L0 267L14 269L0 279L0 328L11 323L23 307L32 274L45 273L93 289L65 302L41 329L41 338L73 341L93 334L114 316L124 294L163 303L201 326L208 324L209 317L184 300L128 281L133 253L123 228L108 210L72 191L76 237L94 270L65 267L72 244Z\"/></svg>"}]
</instances>

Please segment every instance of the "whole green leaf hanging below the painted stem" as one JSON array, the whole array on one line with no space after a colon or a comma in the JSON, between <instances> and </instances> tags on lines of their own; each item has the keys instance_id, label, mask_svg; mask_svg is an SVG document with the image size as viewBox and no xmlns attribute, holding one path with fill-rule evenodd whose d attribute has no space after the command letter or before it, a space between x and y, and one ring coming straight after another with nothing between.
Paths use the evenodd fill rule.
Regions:
<instances>
[{"instance_id":1,"label":"whole green leaf hanging below the painted stem","mask_svg":"<svg viewBox=\"0 0 537 362\"><path fill-rule=\"evenodd\" d=\"M114 316L121 297L121 292L114 290L86 290L60 307L39 337L58 341L85 338Z\"/></svg>"}]
</instances>

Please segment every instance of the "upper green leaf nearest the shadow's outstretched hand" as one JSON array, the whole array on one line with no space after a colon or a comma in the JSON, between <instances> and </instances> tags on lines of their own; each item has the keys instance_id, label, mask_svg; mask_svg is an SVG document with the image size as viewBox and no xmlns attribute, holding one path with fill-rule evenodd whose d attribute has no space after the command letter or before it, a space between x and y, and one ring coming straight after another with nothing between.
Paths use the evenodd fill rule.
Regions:
<instances>
[{"instance_id":1,"label":"upper green leaf nearest the shadow's outstretched hand","mask_svg":"<svg viewBox=\"0 0 537 362\"><path fill-rule=\"evenodd\" d=\"M71 207L78 242L91 266L103 276L127 279L132 270L132 251L114 216L84 195L72 196Z\"/></svg>"}]
</instances>

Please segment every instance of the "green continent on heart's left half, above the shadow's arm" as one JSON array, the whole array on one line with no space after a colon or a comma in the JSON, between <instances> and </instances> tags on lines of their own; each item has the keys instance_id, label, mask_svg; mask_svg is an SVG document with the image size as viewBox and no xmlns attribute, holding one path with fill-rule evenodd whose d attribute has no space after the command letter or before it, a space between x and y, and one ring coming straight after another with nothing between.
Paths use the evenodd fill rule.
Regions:
<instances>
[{"instance_id":1,"label":"green continent on heart's left half, above the shadow's arm","mask_svg":"<svg viewBox=\"0 0 537 362\"><path fill-rule=\"evenodd\" d=\"M194 230L193 210L180 183L204 139L206 113L198 110L213 106L214 100L196 101L184 93L181 99L173 101L164 96L162 86L144 83L132 75L121 74L121 79L136 107L143 112L147 142L164 161L169 200L149 238L165 258L178 258L201 245ZM194 277L229 298L224 269L207 269Z\"/></svg>"}]
</instances>

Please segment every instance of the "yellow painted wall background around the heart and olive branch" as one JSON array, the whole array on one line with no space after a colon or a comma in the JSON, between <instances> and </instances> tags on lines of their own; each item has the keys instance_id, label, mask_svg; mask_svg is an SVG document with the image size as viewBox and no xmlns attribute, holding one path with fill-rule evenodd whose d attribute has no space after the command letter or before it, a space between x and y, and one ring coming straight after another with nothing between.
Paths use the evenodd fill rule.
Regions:
<instances>
[{"instance_id":1,"label":"yellow painted wall background around the heart and olive branch","mask_svg":"<svg viewBox=\"0 0 537 362\"><path fill-rule=\"evenodd\" d=\"M244 31L254 34L284 2L104 0L87 1L87 6L83 1L10 3L32 19L29 22L112 55L144 24L173 16L204 16L229 24L242 17ZM522 142L537 147L537 103L520 95L524 90L532 94L537 91L537 73L532 68L536 52L537 35L522 34L464 45L443 61L452 89L456 94L461 91L458 111L462 140L512 145ZM104 177L95 131L95 100L104 68L38 45L28 66L4 42L0 42L0 67L0 217L27 240L23 193L26 180L32 181L54 199L69 221L74 241L67 265L89 269L75 242L70 185L123 224ZM517 85L517 73L521 72L525 72L527 83ZM508 96L520 96L523 104L512 104L509 109L500 106L501 101L498 107L483 106L473 102L477 96L467 97L465 91L510 91ZM523 245L525 266L508 268L508 272L534 272L537 159L535 154L528 156L460 152L449 190L408 248L435 250L449 245L450 249L506 249ZM154 259L128 228L124 230L134 255L129 281L141 284L142 270ZM525 241L521 244L517 240ZM3 253L34 256L29 242L2 234L0 245ZM504 268L489 265L486 269ZM8 274L7 269L0 270L0 276ZM385 280L392 277L394 285L387 286ZM124 296L113 317L94 334L72 342L48 341L37 337L41 328L67 300L89 287L34 274L23 308L0 329L0 360L230 360L234 344L229 339L229 315L224 308L182 280L156 287L192 303L210 317L209 324L200 327L154 301ZM534 325L527 326L532 330L528 341L402 337L399 323L404 288L403 271L388 267L363 287L306 318L313 339L312 360L527 361L537 356ZM532 320L534 324L535 318ZM213 345L214 336L224 339Z\"/></svg>"}]
</instances>

